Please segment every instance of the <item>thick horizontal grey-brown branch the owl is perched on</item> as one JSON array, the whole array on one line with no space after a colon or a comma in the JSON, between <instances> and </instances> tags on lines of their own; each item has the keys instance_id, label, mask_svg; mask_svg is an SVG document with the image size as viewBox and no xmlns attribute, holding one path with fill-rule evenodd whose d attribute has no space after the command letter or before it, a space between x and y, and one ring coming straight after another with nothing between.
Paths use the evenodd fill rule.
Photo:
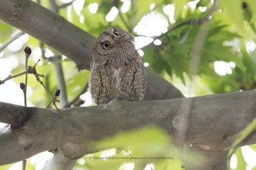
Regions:
<instances>
[{"instance_id":1,"label":"thick horizontal grey-brown branch the owl is perched on","mask_svg":"<svg viewBox=\"0 0 256 170\"><path fill-rule=\"evenodd\" d=\"M219 156L223 158L227 153L225 149L237 132L256 117L255 90L164 101L112 101L99 106L61 109L60 113L0 103L0 122L11 124L0 134L0 152L4 155L0 157L0 165L27 159L50 148L62 148L65 157L77 159L96 152L84 147L85 143L141 125L157 125L174 136L180 126L181 104L190 103L189 100L192 104L184 143L203 148L205 155L210 154L212 159L202 166L212 167L220 163ZM239 146L253 143L256 143L255 132Z\"/></svg>"}]
</instances>

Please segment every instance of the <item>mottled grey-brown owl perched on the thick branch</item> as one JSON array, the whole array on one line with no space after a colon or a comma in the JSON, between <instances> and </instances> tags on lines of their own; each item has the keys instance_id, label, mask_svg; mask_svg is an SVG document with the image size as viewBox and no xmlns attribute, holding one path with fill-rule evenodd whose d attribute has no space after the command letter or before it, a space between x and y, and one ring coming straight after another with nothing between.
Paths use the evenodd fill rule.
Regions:
<instances>
[{"instance_id":1,"label":"mottled grey-brown owl perched on the thick branch","mask_svg":"<svg viewBox=\"0 0 256 170\"><path fill-rule=\"evenodd\" d=\"M95 104L143 99L146 71L131 34L118 27L100 33L92 47L89 86Z\"/></svg>"}]
</instances>

